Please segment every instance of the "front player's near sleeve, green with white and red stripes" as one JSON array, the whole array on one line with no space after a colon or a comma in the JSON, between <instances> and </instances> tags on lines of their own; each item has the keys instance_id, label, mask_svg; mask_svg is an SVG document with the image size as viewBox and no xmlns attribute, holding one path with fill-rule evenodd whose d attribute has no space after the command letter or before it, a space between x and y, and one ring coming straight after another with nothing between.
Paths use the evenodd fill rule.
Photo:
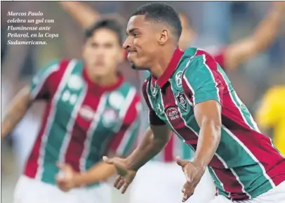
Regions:
<instances>
[{"instance_id":1,"label":"front player's near sleeve, green with white and red stripes","mask_svg":"<svg viewBox=\"0 0 285 203\"><path fill-rule=\"evenodd\" d=\"M194 56L183 73L183 90L193 106L206 100L223 105L223 82L216 60L204 53Z\"/></svg>"}]
</instances>

